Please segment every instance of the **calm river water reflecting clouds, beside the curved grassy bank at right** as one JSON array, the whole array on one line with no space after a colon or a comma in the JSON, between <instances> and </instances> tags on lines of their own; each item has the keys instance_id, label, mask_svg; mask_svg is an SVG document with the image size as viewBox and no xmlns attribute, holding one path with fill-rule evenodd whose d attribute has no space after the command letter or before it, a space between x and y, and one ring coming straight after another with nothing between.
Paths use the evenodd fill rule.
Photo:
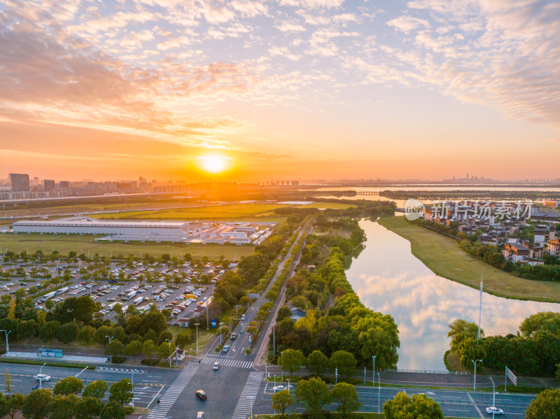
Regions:
<instances>
[{"instance_id":1,"label":"calm river water reflecting clouds, beside the curved grassy bank at right","mask_svg":"<svg viewBox=\"0 0 560 419\"><path fill-rule=\"evenodd\" d=\"M410 243L390 230L363 220L365 250L346 271L365 306L390 314L398 324L399 369L444 370L449 322L478 323L479 292L433 274L410 251ZM482 296L482 329L515 333L519 323L539 311L560 311L560 304Z\"/></svg>"}]
</instances>

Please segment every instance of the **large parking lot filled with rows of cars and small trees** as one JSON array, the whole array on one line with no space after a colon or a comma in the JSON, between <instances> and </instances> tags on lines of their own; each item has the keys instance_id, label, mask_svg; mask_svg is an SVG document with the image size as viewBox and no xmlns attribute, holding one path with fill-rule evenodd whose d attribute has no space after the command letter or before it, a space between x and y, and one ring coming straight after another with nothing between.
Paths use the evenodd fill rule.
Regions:
<instances>
[{"instance_id":1,"label":"large parking lot filled with rows of cars and small trees","mask_svg":"<svg viewBox=\"0 0 560 419\"><path fill-rule=\"evenodd\" d=\"M25 277L11 277L8 280L0 282L0 297L5 294L15 294L16 291L23 289L25 295L34 297L36 309L46 309L45 303L48 299L53 303L59 304L69 297L81 297L83 295L90 296L94 301L99 302L101 310L96 313L97 318L112 319L116 316L114 308L120 304L125 312L129 306L134 306L139 311L148 311L151 304L155 304L158 310L168 308L172 311L172 318L190 317L199 305L209 303L211 293L214 290L214 284L221 278L225 269L215 268L211 262L204 267L195 269L188 262L181 264L179 267L167 267L166 264L143 264L142 262L134 262L130 264L111 262L109 266L102 269L102 274L97 275L95 280L85 279L84 277L92 276L91 271L87 269L84 273L84 266L64 265L57 269L56 267L44 267L39 264L22 265L22 264L3 264L3 270L9 267L24 269ZM230 267L230 269L235 269ZM41 283L47 278L30 278L28 273L48 271L55 274L59 271L62 275L66 272L66 279L62 280L60 285L64 285L59 290L54 290L50 285L44 294ZM68 275L69 274L69 275ZM200 283L200 278L206 276L211 278L209 284ZM110 277L110 278L109 278ZM116 279L118 278L118 279ZM67 282L67 283L66 283ZM31 294L29 289L38 287L38 290ZM39 297L35 295L39 294Z\"/></svg>"}]
</instances>

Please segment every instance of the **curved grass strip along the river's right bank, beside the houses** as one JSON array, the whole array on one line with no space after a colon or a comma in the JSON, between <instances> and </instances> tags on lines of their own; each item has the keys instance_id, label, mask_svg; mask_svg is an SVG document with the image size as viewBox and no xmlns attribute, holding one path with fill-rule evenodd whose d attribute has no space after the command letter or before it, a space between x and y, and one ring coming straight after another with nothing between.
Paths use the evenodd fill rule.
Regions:
<instances>
[{"instance_id":1,"label":"curved grass strip along the river's right bank, beside the houses","mask_svg":"<svg viewBox=\"0 0 560 419\"><path fill-rule=\"evenodd\" d=\"M560 302L560 283L517 278L475 259L458 243L423 227L410 224L405 217L380 218L379 224L410 241L412 254L434 274L478 288L484 275L484 291L498 297Z\"/></svg>"}]
</instances>

